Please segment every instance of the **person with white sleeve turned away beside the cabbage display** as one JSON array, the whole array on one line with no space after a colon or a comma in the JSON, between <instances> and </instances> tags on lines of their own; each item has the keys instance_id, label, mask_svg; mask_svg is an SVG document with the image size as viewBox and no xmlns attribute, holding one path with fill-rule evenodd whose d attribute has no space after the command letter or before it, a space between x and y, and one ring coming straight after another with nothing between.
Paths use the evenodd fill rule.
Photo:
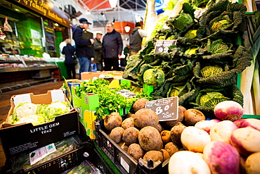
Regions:
<instances>
[{"instance_id":1,"label":"person with white sleeve turned away beside the cabbage display","mask_svg":"<svg viewBox=\"0 0 260 174\"><path fill-rule=\"evenodd\" d=\"M141 49L143 37L147 37L147 32L142 29L141 23L136 23L134 30L129 37L129 54L136 55Z\"/></svg>"}]
</instances>

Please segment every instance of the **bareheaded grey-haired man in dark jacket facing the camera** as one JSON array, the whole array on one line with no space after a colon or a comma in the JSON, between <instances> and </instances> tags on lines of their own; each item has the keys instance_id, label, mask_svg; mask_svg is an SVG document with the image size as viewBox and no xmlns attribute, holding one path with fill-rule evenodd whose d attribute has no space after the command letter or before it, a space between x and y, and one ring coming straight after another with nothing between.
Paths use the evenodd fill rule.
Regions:
<instances>
[{"instance_id":1,"label":"bareheaded grey-haired man in dark jacket facing the camera","mask_svg":"<svg viewBox=\"0 0 260 174\"><path fill-rule=\"evenodd\" d=\"M108 22L107 33L103 37L102 56L104 58L104 70L120 70L119 57L123 50L123 41L119 32L114 29L114 23Z\"/></svg>"}]
</instances>

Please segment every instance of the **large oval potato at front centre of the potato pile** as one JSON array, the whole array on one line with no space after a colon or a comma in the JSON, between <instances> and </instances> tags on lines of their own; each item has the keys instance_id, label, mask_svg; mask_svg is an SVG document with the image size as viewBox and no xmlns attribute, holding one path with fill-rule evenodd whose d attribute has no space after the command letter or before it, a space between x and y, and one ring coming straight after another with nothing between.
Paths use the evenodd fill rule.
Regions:
<instances>
[{"instance_id":1,"label":"large oval potato at front centre of the potato pile","mask_svg":"<svg viewBox=\"0 0 260 174\"><path fill-rule=\"evenodd\" d=\"M163 147L160 132L152 126L146 126L140 130L138 141L145 151L160 150Z\"/></svg>"}]
</instances>

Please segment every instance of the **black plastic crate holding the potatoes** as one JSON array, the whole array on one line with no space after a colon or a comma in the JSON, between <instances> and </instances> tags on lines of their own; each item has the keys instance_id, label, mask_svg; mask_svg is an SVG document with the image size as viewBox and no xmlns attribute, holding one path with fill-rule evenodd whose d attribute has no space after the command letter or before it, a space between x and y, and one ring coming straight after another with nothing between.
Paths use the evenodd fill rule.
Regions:
<instances>
[{"instance_id":1,"label":"black plastic crate holding the potatoes","mask_svg":"<svg viewBox=\"0 0 260 174\"><path fill-rule=\"evenodd\" d=\"M117 166L121 173L168 173L169 159L163 163L160 161L155 163L148 161L148 163L145 163L142 159L136 161L108 136L108 132L103 128L103 121L96 121L96 134L98 147Z\"/></svg>"}]
</instances>

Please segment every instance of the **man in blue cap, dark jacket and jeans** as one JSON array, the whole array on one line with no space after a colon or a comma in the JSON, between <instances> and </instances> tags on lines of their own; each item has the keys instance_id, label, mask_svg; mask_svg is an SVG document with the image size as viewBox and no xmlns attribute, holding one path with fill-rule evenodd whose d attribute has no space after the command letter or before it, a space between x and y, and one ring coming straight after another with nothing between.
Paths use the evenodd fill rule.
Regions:
<instances>
[{"instance_id":1,"label":"man in blue cap, dark jacket and jeans","mask_svg":"<svg viewBox=\"0 0 260 174\"><path fill-rule=\"evenodd\" d=\"M86 18L79 19L77 26L72 34L76 46L76 56L79 59L79 79L81 73L91 71L91 58L94 57L92 44L95 42L93 33L88 32L91 23Z\"/></svg>"}]
</instances>

